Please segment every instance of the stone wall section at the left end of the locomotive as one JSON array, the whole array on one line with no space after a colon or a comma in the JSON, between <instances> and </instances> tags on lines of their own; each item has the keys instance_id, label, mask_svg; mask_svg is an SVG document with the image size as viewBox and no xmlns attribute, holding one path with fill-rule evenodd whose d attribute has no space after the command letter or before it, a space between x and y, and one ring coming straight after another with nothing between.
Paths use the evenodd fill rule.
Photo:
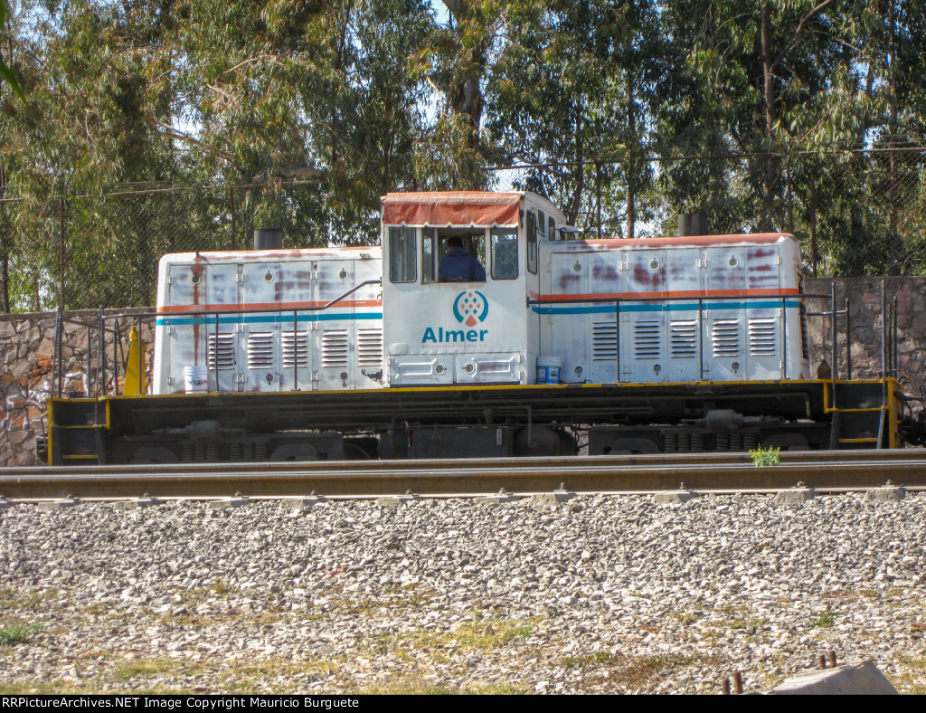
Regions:
<instances>
[{"instance_id":1,"label":"stone wall section at the left end of the locomotive","mask_svg":"<svg viewBox=\"0 0 926 713\"><path fill-rule=\"evenodd\" d=\"M123 310L120 312L143 312L151 310ZM92 324L90 330L94 343L92 351L96 356L98 312L71 312L64 325L65 339L61 356L64 362L62 393L80 396L86 394L94 384L87 375L88 328L75 324ZM135 321L131 320L134 324ZM0 466L36 466L42 463L35 456L36 438L47 432L45 401L52 391L52 356L55 348L54 313L33 313L0 315L0 364L3 376L0 378ZM108 327L113 323L107 322ZM106 337L106 392L113 388L113 355L116 351L128 355L128 322L122 324L122 346L114 347L114 335ZM144 320L142 338L147 344L147 365L150 374L153 340L151 322ZM119 369L119 384L124 378L124 369Z\"/></svg>"}]
</instances>

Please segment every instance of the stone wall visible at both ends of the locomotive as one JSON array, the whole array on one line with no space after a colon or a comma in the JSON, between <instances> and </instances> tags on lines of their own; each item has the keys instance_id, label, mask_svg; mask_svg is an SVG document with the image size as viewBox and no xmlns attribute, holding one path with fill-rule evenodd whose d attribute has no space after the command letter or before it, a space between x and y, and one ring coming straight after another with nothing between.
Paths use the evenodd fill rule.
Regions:
<instances>
[{"instance_id":1,"label":"stone wall visible at both ends of the locomotive","mask_svg":"<svg viewBox=\"0 0 926 713\"><path fill-rule=\"evenodd\" d=\"M856 379L877 378L882 371L881 305L882 283L890 304L897 308L898 377L908 393L919 394L926 385L923 367L926 346L926 278L843 278L836 282L837 306L849 299L852 336L852 376ZM832 281L807 280L808 294L831 292ZM830 300L808 300L809 312L828 310ZM128 310L131 311L131 310ZM151 311L151 310L138 310ZM70 319L94 324L97 313L75 312ZM811 372L817 373L820 362L832 361L832 337L828 318L807 320ZM837 376L845 378L845 317L837 319L839 358ZM127 330L126 330L127 331ZM94 329L95 334L95 329ZM66 394L84 394L87 383L87 328L67 323L63 358ZM148 369L151 368L151 322L143 324L142 337L148 345ZM0 315L0 363L4 373L0 383L3 412L0 414L0 465L40 465L35 457L37 436L44 435L45 399L51 393L51 364L55 342L54 314ZM94 343L94 354L96 347ZM123 338L128 354L128 338ZM106 340L106 360L112 364L113 338ZM830 365L832 367L832 364ZM120 380L123 378L120 371ZM111 391L112 370L106 373L106 388Z\"/></svg>"}]
</instances>

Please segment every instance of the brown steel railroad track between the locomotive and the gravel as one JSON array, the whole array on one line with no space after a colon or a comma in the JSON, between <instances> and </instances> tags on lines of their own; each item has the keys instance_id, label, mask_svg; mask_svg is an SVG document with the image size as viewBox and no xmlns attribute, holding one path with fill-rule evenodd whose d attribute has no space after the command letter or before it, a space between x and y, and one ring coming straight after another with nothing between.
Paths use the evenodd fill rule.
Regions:
<instances>
[{"instance_id":1,"label":"brown steel railroad track between the locomotive and the gravel","mask_svg":"<svg viewBox=\"0 0 926 713\"><path fill-rule=\"evenodd\" d=\"M782 453L781 464L756 468L748 454L677 454L555 458L309 461L8 468L0 496L35 501L68 496L158 498L372 497L401 494L472 496L549 493L644 493L676 490L773 492L798 482L820 492L867 490L891 481L926 489L926 451Z\"/></svg>"}]
</instances>

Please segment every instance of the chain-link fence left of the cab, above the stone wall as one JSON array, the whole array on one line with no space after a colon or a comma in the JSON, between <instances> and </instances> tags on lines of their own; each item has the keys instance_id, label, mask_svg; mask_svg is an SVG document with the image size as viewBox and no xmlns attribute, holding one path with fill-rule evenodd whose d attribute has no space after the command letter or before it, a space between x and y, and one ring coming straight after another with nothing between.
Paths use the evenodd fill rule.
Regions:
<instances>
[{"instance_id":1,"label":"chain-link fence left of the cab, above the stone wall","mask_svg":"<svg viewBox=\"0 0 926 713\"><path fill-rule=\"evenodd\" d=\"M317 183L0 201L0 306L6 312L152 306L161 256L249 249L262 212L266 227L283 229L285 247L328 243Z\"/></svg>"}]
</instances>

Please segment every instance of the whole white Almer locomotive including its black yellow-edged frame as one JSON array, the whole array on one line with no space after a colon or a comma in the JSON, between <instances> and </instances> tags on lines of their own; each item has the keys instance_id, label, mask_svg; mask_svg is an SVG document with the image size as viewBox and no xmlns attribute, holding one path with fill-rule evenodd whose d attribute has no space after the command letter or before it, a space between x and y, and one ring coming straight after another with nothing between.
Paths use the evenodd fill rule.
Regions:
<instances>
[{"instance_id":1,"label":"whole white Almer locomotive including its black yellow-edged frame","mask_svg":"<svg viewBox=\"0 0 926 713\"><path fill-rule=\"evenodd\" d=\"M902 443L895 380L811 378L789 234L585 239L516 192L388 194L381 226L164 256L151 394L53 398L52 462ZM484 279L444 274L451 244Z\"/></svg>"}]
</instances>

